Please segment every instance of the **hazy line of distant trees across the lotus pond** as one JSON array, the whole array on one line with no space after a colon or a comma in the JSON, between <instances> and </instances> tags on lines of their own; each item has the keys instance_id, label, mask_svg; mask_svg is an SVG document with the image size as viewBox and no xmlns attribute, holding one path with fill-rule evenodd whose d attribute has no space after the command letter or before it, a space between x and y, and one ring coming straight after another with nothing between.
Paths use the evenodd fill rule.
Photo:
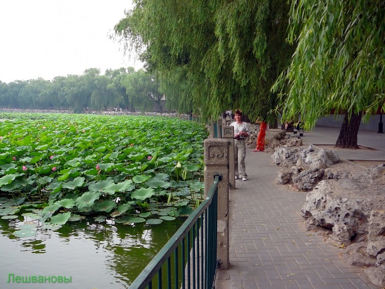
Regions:
<instances>
[{"instance_id":1,"label":"hazy line of distant trees across the lotus pond","mask_svg":"<svg viewBox=\"0 0 385 289\"><path fill-rule=\"evenodd\" d=\"M164 95L159 92L155 76L133 67L90 68L83 75L56 76L52 81L42 78L4 83L0 81L0 107L20 109L84 110L122 108L129 111L152 110L158 104L164 109Z\"/></svg>"}]
</instances>

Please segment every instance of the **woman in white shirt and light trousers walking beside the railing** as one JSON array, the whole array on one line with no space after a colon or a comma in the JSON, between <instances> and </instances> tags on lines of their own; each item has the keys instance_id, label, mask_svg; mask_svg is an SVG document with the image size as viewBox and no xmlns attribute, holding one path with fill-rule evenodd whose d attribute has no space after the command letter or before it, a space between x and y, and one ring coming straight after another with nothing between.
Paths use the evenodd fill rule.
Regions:
<instances>
[{"instance_id":1,"label":"woman in white shirt and light trousers walking beside the railing","mask_svg":"<svg viewBox=\"0 0 385 289\"><path fill-rule=\"evenodd\" d=\"M239 109L235 111L235 122L230 124L234 126L234 153L238 156L238 159L234 163L235 179L242 178L242 181L247 181L246 174L246 143L245 139L249 137L251 131L248 129L248 124L242 121L242 111Z\"/></svg>"}]
</instances>

